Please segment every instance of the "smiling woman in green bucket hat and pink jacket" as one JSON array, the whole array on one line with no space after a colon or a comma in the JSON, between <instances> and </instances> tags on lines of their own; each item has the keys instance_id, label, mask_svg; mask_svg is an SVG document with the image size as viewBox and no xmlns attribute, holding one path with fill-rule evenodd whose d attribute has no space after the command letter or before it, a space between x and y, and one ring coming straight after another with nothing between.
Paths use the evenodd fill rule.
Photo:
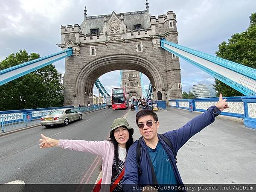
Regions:
<instances>
[{"instance_id":1,"label":"smiling woman in green bucket hat and pink jacket","mask_svg":"<svg viewBox=\"0 0 256 192\"><path fill-rule=\"evenodd\" d=\"M101 191L122 191L124 175L122 170L124 170L128 149L134 143L133 133L134 130L129 127L127 120L118 118L112 123L108 141L55 140L41 134L43 139L40 139L40 148L58 146L100 155L102 157L102 184L108 184L101 185Z\"/></svg>"}]
</instances>

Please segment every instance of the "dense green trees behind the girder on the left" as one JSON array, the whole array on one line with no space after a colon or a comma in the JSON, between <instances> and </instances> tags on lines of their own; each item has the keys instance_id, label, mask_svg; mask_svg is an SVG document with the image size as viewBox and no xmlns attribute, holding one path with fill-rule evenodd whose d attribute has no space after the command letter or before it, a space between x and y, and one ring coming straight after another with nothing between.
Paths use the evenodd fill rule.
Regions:
<instances>
[{"instance_id":1,"label":"dense green trees behind the girder on the left","mask_svg":"<svg viewBox=\"0 0 256 192\"><path fill-rule=\"evenodd\" d=\"M0 62L0 70L39 58L38 53L26 50L12 53ZM63 105L64 87L61 73L52 64L1 85L0 111Z\"/></svg>"}]
</instances>

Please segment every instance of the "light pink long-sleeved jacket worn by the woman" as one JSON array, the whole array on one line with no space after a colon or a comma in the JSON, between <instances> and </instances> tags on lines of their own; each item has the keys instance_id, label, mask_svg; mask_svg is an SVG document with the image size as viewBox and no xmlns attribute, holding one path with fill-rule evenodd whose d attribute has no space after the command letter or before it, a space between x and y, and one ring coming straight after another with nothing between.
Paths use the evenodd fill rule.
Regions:
<instances>
[{"instance_id":1,"label":"light pink long-sleeved jacket worn by the woman","mask_svg":"<svg viewBox=\"0 0 256 192\"><path fill-rule=\"evenodd\" d=\"M110 141L84 141L84 140L59 140L58 147L89 152L102 157L102 185L101 191L109 191L112 165L114 159L114 145Z\"/></svg>"}]
</instances>

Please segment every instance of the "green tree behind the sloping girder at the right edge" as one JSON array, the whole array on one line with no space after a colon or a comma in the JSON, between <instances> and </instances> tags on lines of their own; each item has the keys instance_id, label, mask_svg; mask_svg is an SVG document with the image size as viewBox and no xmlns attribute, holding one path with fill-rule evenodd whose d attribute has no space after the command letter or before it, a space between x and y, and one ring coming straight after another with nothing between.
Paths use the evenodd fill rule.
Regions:
<instances>
[{"instance_id":1,"label":"green tree behind the sloping girder at the right edge","mask_svg":"<svg viewBox=\"0 0 256 192\"><path fill-rule=\"evenodd\" d=\"M219 44L218 57L246 65L256 69L256 12L250 15L250 26L246 31L236 33L228 40ZM239 91L215 79L215 87L223 96L242 96Z\"/></svg>"}]
</instances>

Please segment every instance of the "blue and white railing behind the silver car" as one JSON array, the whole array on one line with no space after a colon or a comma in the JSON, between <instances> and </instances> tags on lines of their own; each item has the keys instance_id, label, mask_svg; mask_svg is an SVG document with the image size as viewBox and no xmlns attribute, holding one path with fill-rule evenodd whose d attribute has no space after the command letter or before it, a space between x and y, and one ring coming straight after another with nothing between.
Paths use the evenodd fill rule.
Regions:
<instances>
[{"instance_id":1,"label":"blue and white railing behind the silver car","mask_svg":"<svg viewBox=\"0 0 256 192\"><path fill-rule=\"evenodd\" d=\"M81 106L81 108L74 106L65 106L55 108L0 111L0 130L2 133L4 133L5 131L12 131L19 128L26 128L28 126L38 125L41 122L42 116L47 115L53 110L63 108L73 108L75 111L86 113L107 108L107 104L104 103L102 105L92 105L91 107Z\"/></svg>"}]
</instances>

